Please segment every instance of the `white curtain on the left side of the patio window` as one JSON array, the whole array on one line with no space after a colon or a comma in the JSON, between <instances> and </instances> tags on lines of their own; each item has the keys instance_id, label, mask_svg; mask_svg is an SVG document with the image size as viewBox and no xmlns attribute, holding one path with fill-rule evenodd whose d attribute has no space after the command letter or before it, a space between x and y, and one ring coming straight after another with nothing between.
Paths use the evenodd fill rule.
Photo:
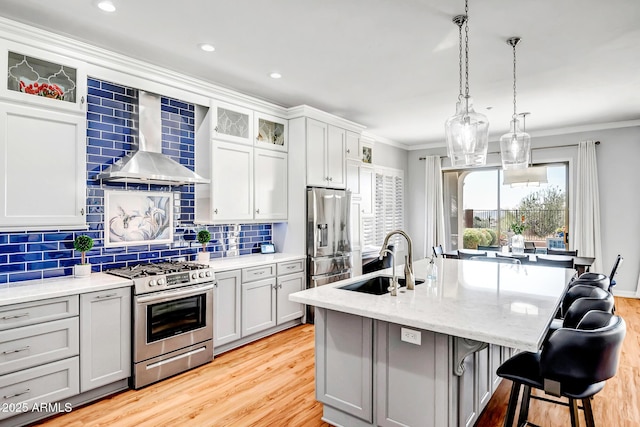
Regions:
<instances>
[{"instance_id":1,"label":"white curtain on the left side of the patio window","mask_svg":"<svg viewBox=\"0 0 640 427\"><path fill-rule=\"evenodd\" d=\"M424 254L430 257L433 255L432 247L443 245L445 241L440 156L427 156L425 165Z\"/></svg>"}]
</instances>

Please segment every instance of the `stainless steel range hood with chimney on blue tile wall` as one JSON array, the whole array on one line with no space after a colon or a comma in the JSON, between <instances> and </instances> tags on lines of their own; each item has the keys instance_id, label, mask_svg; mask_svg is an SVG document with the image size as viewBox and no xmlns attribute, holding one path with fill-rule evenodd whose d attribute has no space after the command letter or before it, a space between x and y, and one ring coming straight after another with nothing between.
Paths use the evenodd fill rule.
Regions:
<instances>
[{"instance_id":1,"label":"stainless steel range hood with chimney on blue tile wall","mask_svg":"<svg viewBox=\"0 0 640 427\"><path fill-rule=\"evenodd\" d=\"M162 154L160 96L138 92L138 150L128 153L96 179L160 185L206 184L210 180Z\"/></svg>"}]
</instances>

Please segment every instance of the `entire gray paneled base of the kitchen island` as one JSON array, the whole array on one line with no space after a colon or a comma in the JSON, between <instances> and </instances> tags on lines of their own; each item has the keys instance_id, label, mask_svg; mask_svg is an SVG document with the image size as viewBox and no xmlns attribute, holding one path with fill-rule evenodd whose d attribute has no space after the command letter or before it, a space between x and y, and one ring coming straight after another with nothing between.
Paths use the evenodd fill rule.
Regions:
<instances>
[{"instance_id":1,"label":"entire gray paneled base of the kitchen island","mask_svg":"<svg viewBox=\"0 0 640 427\"><path fill-rule=\"evenodd\" d=\"M484 345L461 357L459 338L316 307L316 399L333 425L473 426L511 349ZM481 343L479 343L481 344Z\"/></svg>"}]
</instances>

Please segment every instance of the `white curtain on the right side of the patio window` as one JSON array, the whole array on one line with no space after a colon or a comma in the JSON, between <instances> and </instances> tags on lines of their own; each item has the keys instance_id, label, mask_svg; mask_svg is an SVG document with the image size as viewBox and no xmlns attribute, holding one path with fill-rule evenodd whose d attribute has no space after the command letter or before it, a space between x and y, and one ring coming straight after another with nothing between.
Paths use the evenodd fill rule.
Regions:
<instances>
[{"instance_id":1,"label":"white curtain on the right side of the patio window","mask_svg":"<svg viewBox=\"0 0 640 427\"><path fill-rule=\"evenodd\" d=\"M600 239L600 197L598 193L598 166L596 143L578 144L576 181L575 227L573 246L578 255L595 257L591 271L602 271L602 243ZM571 238L571 234L569 234Z\"/></svg>"}]
</instances>

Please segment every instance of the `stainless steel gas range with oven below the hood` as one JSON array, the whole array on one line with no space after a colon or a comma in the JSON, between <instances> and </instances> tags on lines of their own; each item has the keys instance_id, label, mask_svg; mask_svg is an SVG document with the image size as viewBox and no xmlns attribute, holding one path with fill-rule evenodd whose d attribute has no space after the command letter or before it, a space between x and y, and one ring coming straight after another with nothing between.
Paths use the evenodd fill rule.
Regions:
<instances>
[{"instance_id":1,"label":"stainless steel gas range with oven below the hood","mask_svg":"<svg viewBox=\"0 0 640 427\"><path fill-rule=\"evenodd\" d=\"M161 262L107 270L133 280L133 387L213 360L213 270Z\"/></svg>"}]
</instances>

